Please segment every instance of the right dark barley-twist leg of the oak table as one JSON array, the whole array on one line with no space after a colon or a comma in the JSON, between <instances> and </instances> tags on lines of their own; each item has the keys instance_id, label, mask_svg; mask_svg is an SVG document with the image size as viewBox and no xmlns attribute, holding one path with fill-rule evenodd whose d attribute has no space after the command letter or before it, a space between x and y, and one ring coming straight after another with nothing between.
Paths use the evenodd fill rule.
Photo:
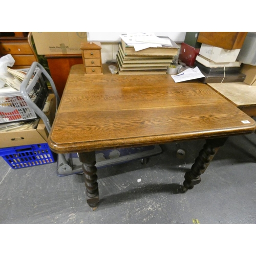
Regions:
<instances>
[{"instance_id":1,"label":"right dark barley-twist leg of the oak table","mask_svg":"<svg viewBox=\"0 0 256 256\"><path fill-rule=\"evenodd\" d=\"M199 156L196 158L195 163L192 165L191 170L184 176L182 190L186 192L188 189L192 189L194 185L201 182L200 175L203 174L210 164L210 161L214 158L217 151L226 142L227 138L219 139L207 139L203 149L199 152Z\"/></svg>"}]
</instances>

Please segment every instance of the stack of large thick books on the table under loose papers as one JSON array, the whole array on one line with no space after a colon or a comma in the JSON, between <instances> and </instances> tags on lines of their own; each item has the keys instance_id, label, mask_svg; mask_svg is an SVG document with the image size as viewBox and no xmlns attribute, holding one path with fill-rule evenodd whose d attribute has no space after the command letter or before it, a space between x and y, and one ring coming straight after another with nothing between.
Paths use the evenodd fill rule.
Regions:
<instances>
[{"instance_id":1,"label":"stack of large thick books on the table under loose papers","mask_svg":"<svg viewBox=\"0 0 256 256\"><path fill-rule=\"evenodd\" d=\"M163 38L163 37L159 37ZM169 38L167 38L169 39ZM179 46L169 39L172 46L149 47L136 51L121 39L117 53L119 75L164 75L167 67L178 54Z\"/></svg>"}]
</instances>

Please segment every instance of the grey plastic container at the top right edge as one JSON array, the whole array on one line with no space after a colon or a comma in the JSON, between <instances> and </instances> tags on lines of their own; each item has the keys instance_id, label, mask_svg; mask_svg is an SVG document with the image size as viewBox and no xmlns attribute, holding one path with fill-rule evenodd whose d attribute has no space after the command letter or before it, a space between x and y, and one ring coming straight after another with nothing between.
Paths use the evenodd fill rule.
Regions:
<instances>
[{"instance_id":1,"label":"grey plastic container at the top right edge","mask_svg":"<svg viewBox=\"0 0 256 256\"><path fill-rule=\"evenodd\" d=\"M238 60L244 64L256 66L256 32L247 33Z\"/></svg>"}]
</instances>

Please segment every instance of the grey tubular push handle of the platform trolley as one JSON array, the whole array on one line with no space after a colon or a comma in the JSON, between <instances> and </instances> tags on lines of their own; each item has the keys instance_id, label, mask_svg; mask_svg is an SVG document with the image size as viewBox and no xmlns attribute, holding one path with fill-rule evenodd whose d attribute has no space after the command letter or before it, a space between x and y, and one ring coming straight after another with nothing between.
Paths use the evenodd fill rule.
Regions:
<instances>
[{"instance_id":1,"label":"grey tubular push handle of the platform trolley","mask_svg":"<svg viewBox=\"0 0 256 256\"><path fill-rule=\"evenodd\" d=\"M29 91L31 88L33 88L38 81L38 79L45 79L42 77L42 74L44 74L45 78L50 82L51 88L53 90L53 93L56 97L56 111L58 109L58 105L60 102L60 98L58 95L58 92L56 90L55 84L51 78L51 76L48 74L48 72L45 70L44 67L40 65L38 62L33 62L26 77L24 78L22 84L20 84L20 93L24 97L25 101L27 102L28 106L44 121L46 125L47 131L50 133L51 131L51 123L48 119L48 117L45 115L44 112L38 106L31 100L29 97Z\"/></svg>"}]
</instances>

